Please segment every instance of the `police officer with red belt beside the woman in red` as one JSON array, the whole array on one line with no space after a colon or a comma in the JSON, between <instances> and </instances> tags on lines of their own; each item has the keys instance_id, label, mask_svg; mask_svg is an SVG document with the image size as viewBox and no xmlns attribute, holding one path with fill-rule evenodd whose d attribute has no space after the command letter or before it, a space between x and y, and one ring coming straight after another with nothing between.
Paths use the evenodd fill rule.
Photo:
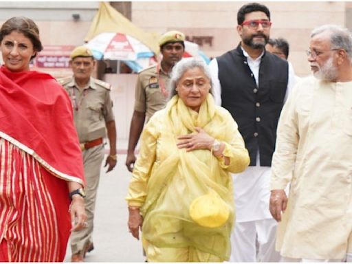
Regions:
<instances>
[{"instance_id":1,"label":"police officer with red belt beside the woman in red","mask_svg":"<svg viewBox=\"0 0 352 264\"><path fill-rule=\"evenodd\" d=\"M91 51L84 46L72 52L70 66L74 76L58 80L67 90L74 108L74 122L80 140L80 148L85 167L85 208L87 228L72 232L72 262L83 261L85 254L94 249L93 232L94 208L98 190L100 166L104 158L103 137L109 137L110 153L105 162L107 172L117 162L116 129L110 98L111 85L91 77L96 61Z\"/></svg>"}]
</instances>

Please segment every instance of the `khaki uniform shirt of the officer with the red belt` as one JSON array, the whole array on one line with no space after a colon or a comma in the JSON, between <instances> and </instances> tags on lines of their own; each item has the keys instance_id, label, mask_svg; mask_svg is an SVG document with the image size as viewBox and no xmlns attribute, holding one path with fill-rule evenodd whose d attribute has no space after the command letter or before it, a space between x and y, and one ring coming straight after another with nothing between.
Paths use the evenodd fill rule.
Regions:
<instances>
[{"instance_id":1,"label":"khaki uniform shirt of the officer with the red belt","mask_svg":"<svg viewBox=\"0 0 352 264\"><path fill-rule=\"evenodd\" d=\"M72 100L74 123L80 143L106 136L106 122L114 120L110 98L111 85L92 78L80 90L74 77L58 80Z\"/></svg>"}]
</instances>

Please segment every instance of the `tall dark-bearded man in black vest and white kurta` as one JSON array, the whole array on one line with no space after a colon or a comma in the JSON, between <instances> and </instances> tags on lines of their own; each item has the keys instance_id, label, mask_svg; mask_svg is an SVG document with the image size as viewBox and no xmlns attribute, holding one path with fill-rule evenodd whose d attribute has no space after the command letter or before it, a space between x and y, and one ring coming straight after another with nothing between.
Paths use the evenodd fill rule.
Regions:
<instances>
[{"instance_id":1,"label":"tall dark-bearded man in black vest and white kurta","mask_svg":"<svg viewBox=\"0 0 352 264\"><path fill-rule=\"evenodd\" d=\"M234 175L236 224L232 262L279 261L276 221L269 211L272 155L276 126L294 70L270 52L270 11L259 3L243 5L237 14L241 43L212 60L210 69L217 104L228 109L250 153L250 167Z\"/></svg>"}]
</instances>

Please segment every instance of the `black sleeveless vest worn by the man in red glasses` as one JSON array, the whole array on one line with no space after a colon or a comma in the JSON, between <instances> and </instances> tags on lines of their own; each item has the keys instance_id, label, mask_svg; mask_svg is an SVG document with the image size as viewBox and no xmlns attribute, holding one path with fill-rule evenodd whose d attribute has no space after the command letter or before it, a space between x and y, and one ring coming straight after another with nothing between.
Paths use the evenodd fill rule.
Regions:
<instances>
[{"instance_id":1,"label":"black sleeveless vest worn by the man in red glasses","mask_svg":"<svg viewBox=\"0 0 352 264\"><path fill-rule=\"evenodd\" d=\"M265 52L259 67L259 87L243 55L241 45L217 58L221 84L221 106L228 109L256 165L259 148L261 166L271 166L276 128L288 82L288 63Z\"/></svg>"}]
</instances>

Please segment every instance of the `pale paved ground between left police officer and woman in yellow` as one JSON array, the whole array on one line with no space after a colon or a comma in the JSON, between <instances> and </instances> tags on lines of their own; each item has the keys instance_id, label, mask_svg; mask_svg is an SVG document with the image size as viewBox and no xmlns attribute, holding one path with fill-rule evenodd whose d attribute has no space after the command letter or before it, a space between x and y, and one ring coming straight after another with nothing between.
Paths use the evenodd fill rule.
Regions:
<instances>
[{"instance_id":1,"label":"pale paved ground between left police officer and woman in yellow","mask_svg":"<svg viewBox=\"0 0 352 264\"><path fill-rule=\"evenodd\" d=\"M120 150L126 142L118 142ZM120 153L122 151L119 151ZM110 173L102 168L96 217L94 225L94 250L87 254L86 262L144 262L142 245L127 228L127 187L131 173L124 166L125 154L118 155L118 165ZM67 248L65 262L69 262L71 250Z\"/></svg>"}]
</instances>

